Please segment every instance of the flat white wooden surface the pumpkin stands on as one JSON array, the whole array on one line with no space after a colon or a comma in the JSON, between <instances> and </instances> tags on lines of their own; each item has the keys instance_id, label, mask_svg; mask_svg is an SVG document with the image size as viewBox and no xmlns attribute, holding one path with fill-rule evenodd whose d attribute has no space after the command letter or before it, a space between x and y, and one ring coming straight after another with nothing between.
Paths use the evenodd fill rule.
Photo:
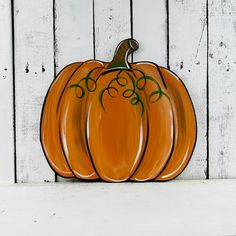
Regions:
<instances>
[{"instance_id":1,"label":"flat white wooden surface the pumpkin stands on","mask_svg":"<svg viewBox=\"0 0 236 236\"><path fill-rule=\"evenodd\" d=\"M3 235L235 235L236 180L0 187Z\"/></svg>"}]
</instances>

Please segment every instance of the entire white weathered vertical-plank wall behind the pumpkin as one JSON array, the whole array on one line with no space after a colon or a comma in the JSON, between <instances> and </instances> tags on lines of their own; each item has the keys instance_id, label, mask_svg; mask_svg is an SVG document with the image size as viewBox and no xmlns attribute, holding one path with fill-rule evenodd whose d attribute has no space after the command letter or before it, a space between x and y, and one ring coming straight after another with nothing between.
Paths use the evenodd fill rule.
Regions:
<instances>
[{"instance_id":1,"label":"entire white weathered vertical-plank wall behind the pumpkin","mask_svg":"<svg viewBox=\"0 0 236 236\"><path fill-rule=\"evenodd\" d=\"M140 43L134 61L170 66L193 99L198 141L179 178L236 177L235 1L13 2L12 16L10 2L0 0L0 182L55 181L39 142L54 74L74 61L110 61L117 43L131 36Z\"/></svg>"}]
</instances>

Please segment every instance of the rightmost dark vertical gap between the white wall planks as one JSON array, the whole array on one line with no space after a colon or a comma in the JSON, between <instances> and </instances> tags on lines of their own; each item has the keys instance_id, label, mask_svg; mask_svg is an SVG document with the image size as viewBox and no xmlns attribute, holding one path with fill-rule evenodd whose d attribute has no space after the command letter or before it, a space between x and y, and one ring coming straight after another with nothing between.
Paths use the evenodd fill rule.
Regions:
<instances>
[{"instance_id":1,"label":"rightmost dark vertical gap between the white wall planks","mask_svg":"<svg viewBox=\"0 0 236 236\"><path fill-rule=\"evenodd\" d=\"M206 19L207 19L207 80L206 80L206 115L207 115L207 119L206 119L206 141L207 141L207 156L206 156L206 162L207 162L207 166L206 166L206 179L210 178L210 168L209 168L209 164L210 164L210 159L209 159L209 14L208 14L208 0L206 0Z\"/></svg>"}]
</instances>

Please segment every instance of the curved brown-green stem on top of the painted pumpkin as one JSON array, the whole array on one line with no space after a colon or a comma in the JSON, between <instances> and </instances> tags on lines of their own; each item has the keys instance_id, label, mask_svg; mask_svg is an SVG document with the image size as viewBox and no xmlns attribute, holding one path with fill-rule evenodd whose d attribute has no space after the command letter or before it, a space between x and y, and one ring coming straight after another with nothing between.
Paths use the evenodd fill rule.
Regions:
<instances>
[{"instance_id":1,"label":"curved brown-green stem on top of the painted pumpkin","mask_svg":"<svg viewBox=\"0 0 236 236\"><path fill-rule=\"evenodd\" d=\"M138 42L135 39L125 39L116 47L112 61L108 64L107 69L129 69L128 56L138 49Z\"/></svg>"}]
</instances>

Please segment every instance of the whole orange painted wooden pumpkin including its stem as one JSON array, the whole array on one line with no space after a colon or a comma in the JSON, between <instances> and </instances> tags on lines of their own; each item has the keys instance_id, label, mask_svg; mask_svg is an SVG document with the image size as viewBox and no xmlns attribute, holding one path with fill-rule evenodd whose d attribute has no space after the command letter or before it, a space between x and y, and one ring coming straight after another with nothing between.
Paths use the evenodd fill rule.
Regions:
<instances>
[{"instance_id":1,"label":"whole orange painted wooden pumpkin including its stem","mask_svg":"<svg viewBox=\"0 0 236 236\"><path fill-rule=\"evenodd\" d=\"M128 63L138 49L122 41L110 63L65 67L47 93L41 143L63 177L108 182L166 181L188 164L196 141L190 96L171 71Z\"/></svg>"}]
</instances>

